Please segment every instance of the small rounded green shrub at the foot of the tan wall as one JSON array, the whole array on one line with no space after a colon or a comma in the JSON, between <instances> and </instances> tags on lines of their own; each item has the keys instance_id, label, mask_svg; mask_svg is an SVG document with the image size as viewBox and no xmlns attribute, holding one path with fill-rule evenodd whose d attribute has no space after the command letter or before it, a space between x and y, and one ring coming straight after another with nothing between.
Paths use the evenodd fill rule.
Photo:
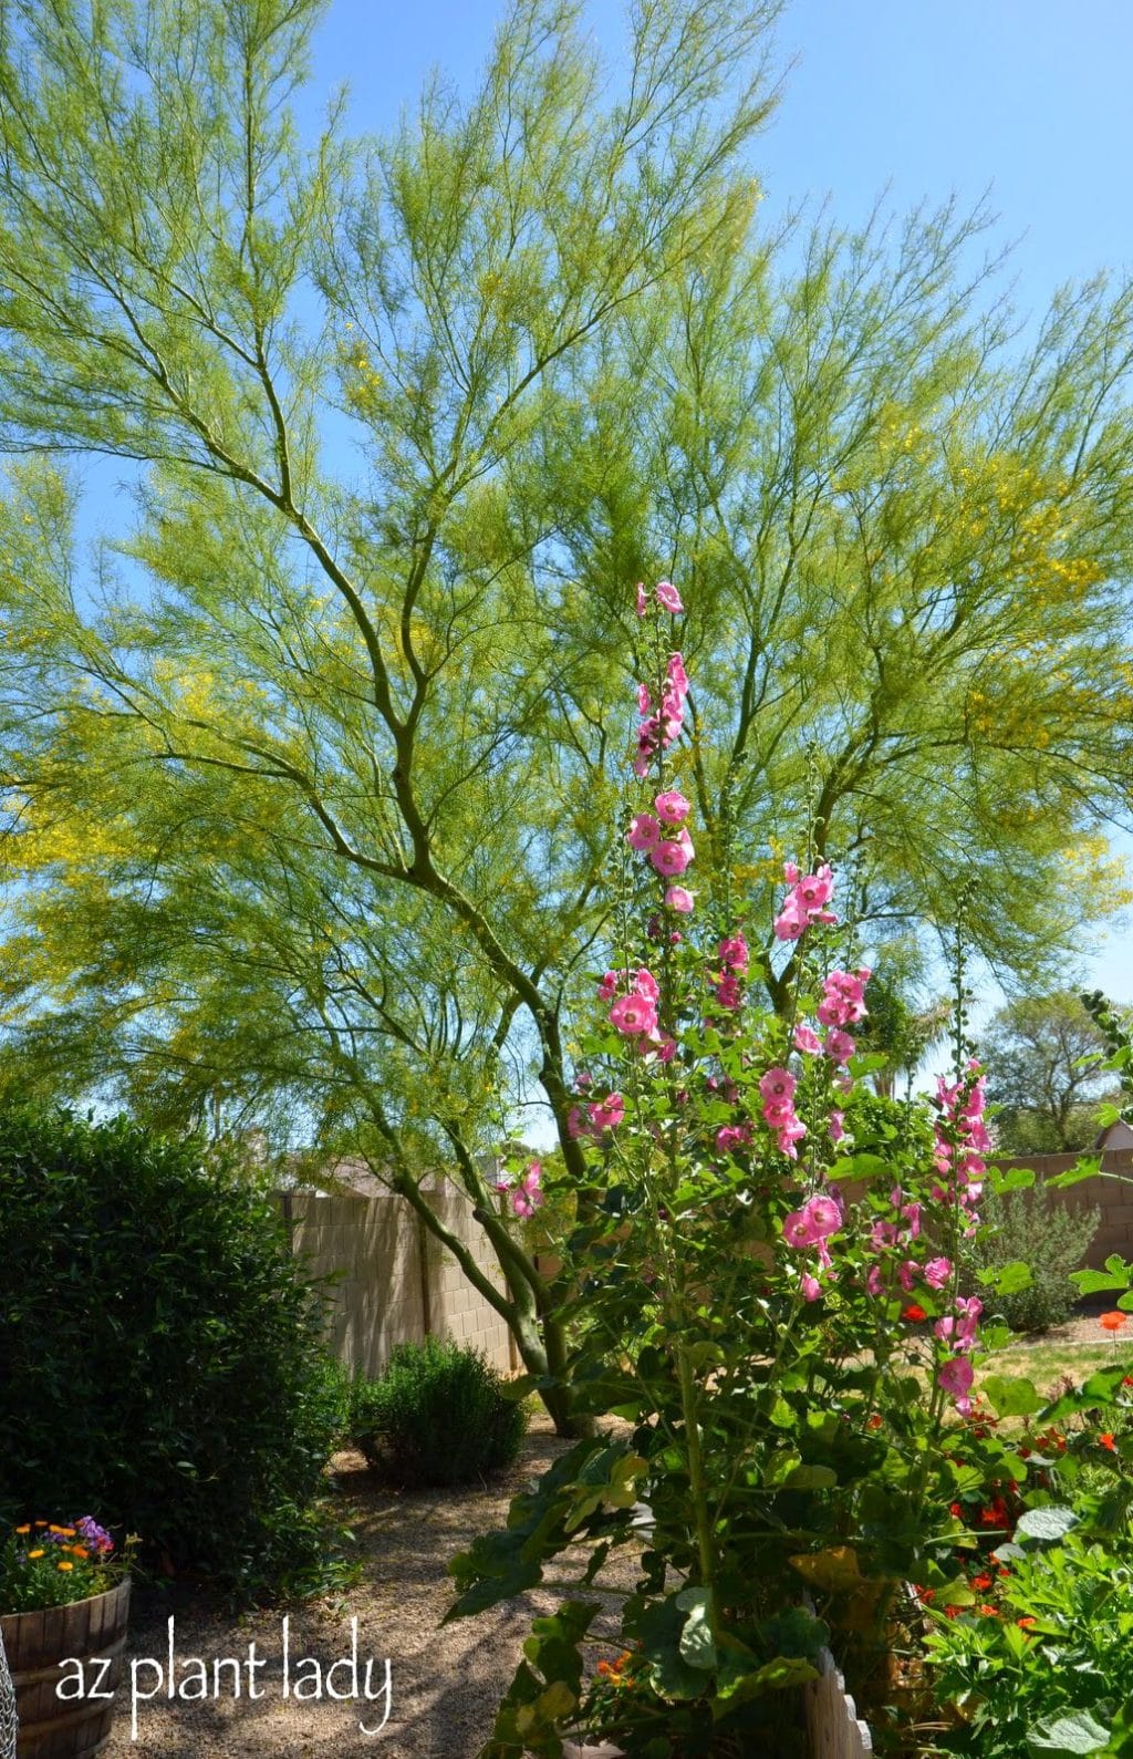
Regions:
<instances>
[{"instance_id":1,"label":"small rounded green shrub at the foot of the tan wall","mask_svg":"<svg viewBox=\"0 0 1133 1759\"><path fill-rule=\"evenodd\" d=\"M355 1383L352 1430L398 1485L463 1485L512 1465L526 1414L482 1354L428 1337L399 1344L380 1379Z\"/></svg>"}]
</instances>

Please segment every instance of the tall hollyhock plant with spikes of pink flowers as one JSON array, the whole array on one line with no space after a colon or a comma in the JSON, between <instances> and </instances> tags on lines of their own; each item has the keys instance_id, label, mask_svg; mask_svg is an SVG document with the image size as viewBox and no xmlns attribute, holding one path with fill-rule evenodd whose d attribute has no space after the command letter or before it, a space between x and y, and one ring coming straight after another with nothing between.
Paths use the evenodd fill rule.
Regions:
<instances>
[{"instance_id":1,"label":"tall hollyhock plant with spikes of pink flowers","mask_svg":"<svg viewBox=\"0 0 1133 1759\"><path fill-rule=\"evenodd\" d=\"M786 862L786 895L762 920L758 894L718 871L684 908L691 892L672 881L700 839L674 781L688 677L660 614L679 603L676 589L674 603L639 593L647 675L618 969L572 1045L607 1098L565 1126L584 1179L561 1175L572 1226L554 1251L577 1295L556 1372L593 1434L454 1564L457 1615L540 1585L559 1595L500 1706L493 1755L551 1759L566 1736L632 1759L660 1738L788 1750L779 1694L825 1643L860 1652L869 1615L881 1641L901 1580L947 1581L938 1557L955 1550L950 1448L985 1337L957 1281L987 1152L982 1077L941 1080L931 1124L910 1101L888 1135L867 1135L850 1029L867 1018L871 971L839 923L830 864ZM714 836L705 846L716 857ZM688 916L683 936L672 911ZM644 946L653 969L635 966ZM982 1446L964 1483L987 1474L990 1495L999 1456ZM593 1601L558 1587L579 1574L575 1550ZM848 1606L844 1581L869 1597ZM804 1587L822 1624L799 1606ZM584 1676L598 1604L603 1639L633 1657L616 1694Z\"/></svg>"}]
</instances>

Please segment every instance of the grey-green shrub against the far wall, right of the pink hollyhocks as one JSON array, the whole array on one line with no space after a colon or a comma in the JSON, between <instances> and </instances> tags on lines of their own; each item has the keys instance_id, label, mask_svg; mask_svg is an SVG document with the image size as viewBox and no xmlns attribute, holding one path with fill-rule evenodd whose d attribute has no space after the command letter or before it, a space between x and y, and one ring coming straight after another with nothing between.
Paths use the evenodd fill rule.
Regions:
<instances>
[{"instance_id":1,"label":"grey-green shrub against the far wall, right of the pink hollyhocks","mask_svg":"<svg viewBox=\"0 0 1133 1759\"><path fill-rule=\"evenodd\" d=\"M969 1291L985 1295L978 1282L980 1270L1001 1270L1022 1261L1031 1270L1029 1288L996 1295L994 1310L1015 1332L1045 1332L1063 1325L1077 1300L1070 1272L1089 1251L1101 1210L1066 1203L1043 1184L1034 1184L1003 1196L985 1189L982 1217L983 1226L968 1242L962 1261Z\"/></svg>"}]
</instances>

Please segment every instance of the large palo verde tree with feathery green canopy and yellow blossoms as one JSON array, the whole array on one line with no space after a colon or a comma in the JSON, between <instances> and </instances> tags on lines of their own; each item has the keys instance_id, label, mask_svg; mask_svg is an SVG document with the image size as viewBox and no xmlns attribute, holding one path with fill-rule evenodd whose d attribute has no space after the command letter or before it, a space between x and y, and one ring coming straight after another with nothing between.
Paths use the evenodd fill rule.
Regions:
<instances>
[{"instance_id":1,"label":"large palo verde tree with feathery green canopy and yellow blossoms","mask_svg":"<svg viewBox=\"0 0 1133 1759\"><path fill-rule=\"evenodd\" d=\"M753 938L783 853L853 867L866 952L975 876L1020 974L1115 895L1133 294L1024 343L980 218L767 234L772 12L651 0L610 93L519 0L466 104L310 153L306 0L0 14L7 1078L366 1154L537 1372L479 1152L533 1073L582 1170L637 579L688 607L674 779ZM137 471L90 561L84 452Z\"/></svg>"}]
</instances>

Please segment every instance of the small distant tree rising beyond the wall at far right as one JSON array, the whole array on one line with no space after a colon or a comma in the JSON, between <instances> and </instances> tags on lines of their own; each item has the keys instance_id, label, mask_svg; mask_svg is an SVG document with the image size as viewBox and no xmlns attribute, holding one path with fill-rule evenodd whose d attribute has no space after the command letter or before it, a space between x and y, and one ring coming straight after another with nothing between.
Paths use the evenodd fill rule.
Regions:
<instances>
[{"instance_id":1,"label":"small distant tree rising beyond the wall at far right","mask_svg":"<svg viewBox=\"0 0 1133 1759\"><path fill-rule=\"evenodd\" d=\"M1103 1062L1105 1034L1071 990L1012 1001L980 1040L987 1094L1001 1106L998 1147L1005 1154L1089 1149L1098 1112L1115 1098Z\"/></svg>"}]
</instances>

